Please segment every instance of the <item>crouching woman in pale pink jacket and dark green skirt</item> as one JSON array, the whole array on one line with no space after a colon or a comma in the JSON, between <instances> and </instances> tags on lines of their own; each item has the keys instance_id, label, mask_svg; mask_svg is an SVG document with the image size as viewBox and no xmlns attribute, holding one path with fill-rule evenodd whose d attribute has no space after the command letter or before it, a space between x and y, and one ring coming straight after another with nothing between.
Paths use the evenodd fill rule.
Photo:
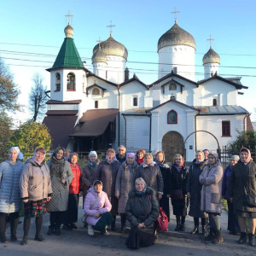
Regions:
<instances>
[{"instance_id":1,"label":"crouching woman in pale pink jacket and dark green skirt","mask_svg":"<svg viewBox=\"0 0 256 256\"><path fill-rule=\"evenodd\" d=\"M107 228L113 223L113 217L110 213L111 207L108 195L102 191L102 182L96 180L88 190L84 200L88 235L93 236L94 229L101 231L104 236L109 236Z\"/></svg>"}]
</instances>

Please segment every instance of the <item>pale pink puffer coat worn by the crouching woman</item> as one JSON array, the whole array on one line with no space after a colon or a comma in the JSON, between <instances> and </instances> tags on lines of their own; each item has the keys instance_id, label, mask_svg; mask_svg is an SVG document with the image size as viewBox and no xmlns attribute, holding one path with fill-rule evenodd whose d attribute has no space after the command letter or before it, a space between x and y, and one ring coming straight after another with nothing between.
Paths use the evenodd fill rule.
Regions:
<instances>
[{"instance_id":1,"label":"pale pink puffer coat worn by the crouching woman","mask_svg":"<svg viewBox=\"0 0 256 256\"><path fill-rule=\"evenodd\" d=\"M97 197L99 197L99 199L96 201ZM95 201L96 203L94 203ZM84 200L84 212L87 215L86 222L90 225L96 225L102 218L102 214L110 212L111 207L108 195L104 191L98 194L95 192L94 188L90 188ZM99 218L94 218L97 212L100 212L101 215Z\"/></svg>"}]
</instances>

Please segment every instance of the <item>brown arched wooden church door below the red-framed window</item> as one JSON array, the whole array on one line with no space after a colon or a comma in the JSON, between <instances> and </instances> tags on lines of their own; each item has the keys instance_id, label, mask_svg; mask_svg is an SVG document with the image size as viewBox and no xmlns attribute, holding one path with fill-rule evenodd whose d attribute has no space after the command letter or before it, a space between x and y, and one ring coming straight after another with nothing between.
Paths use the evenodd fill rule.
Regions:
<instances>
[{"instance_id":1,"label":"brown arched wooden church door below the red-framed window","mask_svg":"<svg viewBox=\"0 0 256 256\"><path fill-rule=\"evenodd\" d=\"M162 139L166 162L172 163L175 154L183 154L183 137L177 131L169 131Z\"/></svg>"}]
</instances>

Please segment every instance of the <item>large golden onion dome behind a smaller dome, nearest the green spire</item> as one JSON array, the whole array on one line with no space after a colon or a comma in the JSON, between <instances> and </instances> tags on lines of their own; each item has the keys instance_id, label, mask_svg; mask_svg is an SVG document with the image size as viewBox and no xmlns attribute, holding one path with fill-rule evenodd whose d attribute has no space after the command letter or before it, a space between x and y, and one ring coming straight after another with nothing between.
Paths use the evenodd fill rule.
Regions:
<instances>
[{"instance_id":1,"label":"large golden onion dome behind a smaller dome, nearest the green spire","mask_svg":"<svg viewBox=\"0 0 256 256\"><path fill-rule=\"evenodd\" d=\"M93 49L93 55L96 54L96 52L99 49L99 44L96 44L96 46ZM125 48L123 44L120 44L119 42L115 41L112 36L110 36L106 41L101 42L101 49L102 52L105 55L116 55L125 58L127 60L128 51Z\"/></svg>"}]
</instances>

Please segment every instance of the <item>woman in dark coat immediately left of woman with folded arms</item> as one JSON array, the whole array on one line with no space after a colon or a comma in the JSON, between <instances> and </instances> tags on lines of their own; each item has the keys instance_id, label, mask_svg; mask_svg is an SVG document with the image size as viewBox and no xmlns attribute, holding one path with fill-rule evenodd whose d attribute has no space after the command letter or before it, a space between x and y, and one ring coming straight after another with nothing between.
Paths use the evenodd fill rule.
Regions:
<instances>
[{"instance_id":1,"label":"woman in dark coat immediately left of woman with folded arms","mask_svg":"<svg viewBox=\"0 0 256 256\"><path fill-rule=\"evenodd\" d=\"M187 195L190 201L189 216L194 217L194 230L191 231L192 235L199 234L199 218L201 218L202 235L206 236L206 212L201 212L201 187L199 176L207 165L204 153L201 150L195 152L195 160L189 167L189 175L187 179Z\"/></svg>"}]
</instances>

